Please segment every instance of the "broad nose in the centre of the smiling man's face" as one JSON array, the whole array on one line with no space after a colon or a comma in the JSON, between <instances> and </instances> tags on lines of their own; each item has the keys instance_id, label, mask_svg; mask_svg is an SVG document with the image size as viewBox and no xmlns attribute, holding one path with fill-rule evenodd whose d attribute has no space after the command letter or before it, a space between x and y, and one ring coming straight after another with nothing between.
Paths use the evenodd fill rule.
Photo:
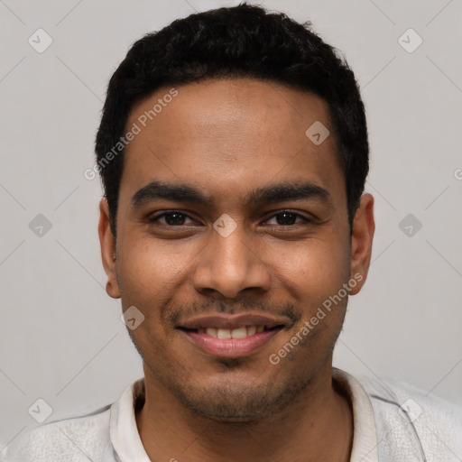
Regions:
<instances>
[{"instance_id":1,"label":"broad nose in the centre of the smiling man's face","mask_svg":"<svg viewBox=\"0 0 462 462\"><path fill-rule=\"evenodd\" d=\"M243 291L268 291L271 273L253 244L242 226L226 237L214 229L192 275L195 290L208 296L219 293L228 299Z\"/></svg>"}]
</instances>

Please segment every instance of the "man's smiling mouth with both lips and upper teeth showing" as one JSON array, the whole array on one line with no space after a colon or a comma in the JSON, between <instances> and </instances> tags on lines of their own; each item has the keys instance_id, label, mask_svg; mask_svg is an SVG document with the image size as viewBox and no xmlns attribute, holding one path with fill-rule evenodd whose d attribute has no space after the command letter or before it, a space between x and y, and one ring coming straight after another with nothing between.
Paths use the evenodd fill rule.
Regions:
<instances>
[{"instance_id":1,"label":"man's smiling mouth with both lips and upper teeth showing","mask_svg":"<svg viewBox=\"0 0 462 462\"><path fill-rule=\"evenodd\" d=\"M177 329L211 356L249 356L267 345L283 328L285 319L262 315L215 315L189 319Z\"/></svg>"}]
</instances>

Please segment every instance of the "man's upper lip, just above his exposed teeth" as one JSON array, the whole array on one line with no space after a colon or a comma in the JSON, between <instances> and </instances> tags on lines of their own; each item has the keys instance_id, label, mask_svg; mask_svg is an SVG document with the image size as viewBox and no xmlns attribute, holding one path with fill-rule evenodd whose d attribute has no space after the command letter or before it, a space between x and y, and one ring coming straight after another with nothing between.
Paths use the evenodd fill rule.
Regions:
<instances>
[{"instance_id":1,"label":"man's upper lip, just above his exposed teeth","mask_svg":"<svg viewBox=\"0 0 462 462\"><path fill-rule=\"evenodd\" d=\"M194 316L181 322L179 328L241 328L243 326L264 326L275 328L285 326L288 319L270 314L243 313L236 315L209 314Z\"/></svg>"}]
</instances>

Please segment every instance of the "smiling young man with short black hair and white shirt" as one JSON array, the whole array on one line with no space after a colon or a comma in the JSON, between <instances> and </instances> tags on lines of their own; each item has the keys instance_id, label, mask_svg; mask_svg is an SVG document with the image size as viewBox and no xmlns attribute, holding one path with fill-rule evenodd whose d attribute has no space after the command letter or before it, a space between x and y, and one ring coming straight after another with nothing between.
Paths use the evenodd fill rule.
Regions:
<instances>
[{"instance_id":1,"label":"smiling young man with short black hair and white shirt","mask_svg":"<svg viewBox=\"0 0 462 462\"><path fill-rule=\"evenodd\" d=\"M332 367L374 236L364 106L345 60L239 5L148 34L96 142L106 291L144 377L5 460L462 460L462 412Z\"/></svg>"}]
</instances>

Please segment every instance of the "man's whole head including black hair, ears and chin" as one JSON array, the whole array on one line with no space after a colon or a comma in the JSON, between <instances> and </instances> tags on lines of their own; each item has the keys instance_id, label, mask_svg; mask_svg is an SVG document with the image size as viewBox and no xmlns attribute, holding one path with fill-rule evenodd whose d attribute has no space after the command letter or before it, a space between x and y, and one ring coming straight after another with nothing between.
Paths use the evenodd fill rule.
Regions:
<instances>
[{"instance_id":1,"label":"man's whole head including black hair, ears and chin","mask_svg":"<svg viewBox=\"0 0 462 462\"><path fill-rule=\"evenodd\" d=\"M146 379L217 420L294 400L329 364L370 261L365 110L347 62L284 14L192 14L128 51L96 151L106 290L143 314L129 332ZM282 327L218 357L185 327L217 312Z\"/></svg>"}]
</instances>

